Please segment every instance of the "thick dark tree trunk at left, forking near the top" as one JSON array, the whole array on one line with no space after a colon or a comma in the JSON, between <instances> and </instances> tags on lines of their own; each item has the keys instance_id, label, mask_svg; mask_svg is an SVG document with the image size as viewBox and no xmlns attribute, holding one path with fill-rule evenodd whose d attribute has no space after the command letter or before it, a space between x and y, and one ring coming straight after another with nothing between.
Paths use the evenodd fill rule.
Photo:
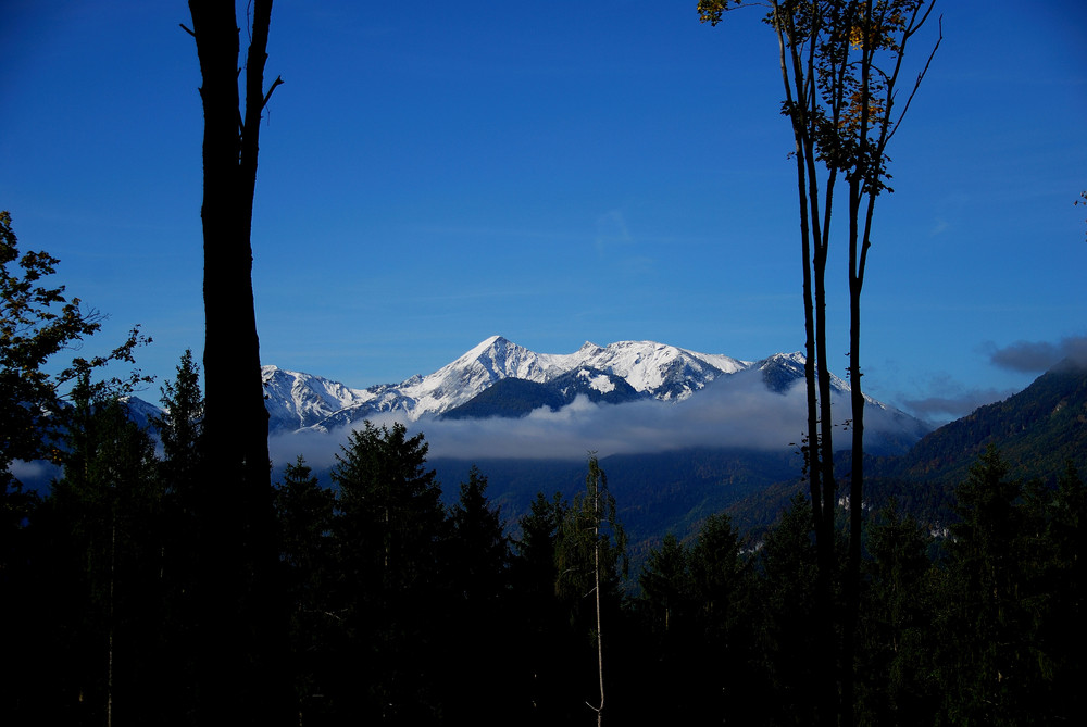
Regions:
<instances>
[{"instance_id":1,"label":"thick dark tree trunk at left, forking near the top","mask_svg":"<svg viewBox=\"0 0 1087 727\"><path fill-rule=\"evenodd\" d=\"M274 560L267 411L252 286L252 204L272 0L257 0L240 109L233 2L190 0L203 102L204 381L200 482L201 722L266 724ZM274 89L280 82L273 84ZM271 90L268 91L271 95Z\"/></svg>"}]
</instances>

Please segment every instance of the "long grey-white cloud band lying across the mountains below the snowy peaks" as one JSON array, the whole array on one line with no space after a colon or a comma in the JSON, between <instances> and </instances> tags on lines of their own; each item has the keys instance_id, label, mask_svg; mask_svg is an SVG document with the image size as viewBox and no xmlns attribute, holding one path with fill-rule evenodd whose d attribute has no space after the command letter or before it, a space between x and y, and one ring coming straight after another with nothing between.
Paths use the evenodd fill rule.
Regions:
<instances>
[{"instance_id":1,"label":"long grey-white cloud band lying across the mountains below the snowy peaks","mask_svg":"<svg viewBox=\"0 0 1087 727\"><path fill-rule=\"evenodd\" d=\"M849 417L847 399L836 400L834 408L842 421ZM888 412L875 406L866 408L865 412L866 433L902 428L901 421ZM395 421L391 416L372 419L377 426ZM583 460L587 451L608 456L690 447L788 451L795 449L794 442L799 442L807 429L807 401L802 383L784 394L774 393L762 386L761 373L751 371L719 379L678 403L641 400L602 404L579 397L558 411L539 409L516 419L403 423L410 433L424 434L432 457L576 461ZM355 425L361 426L361 423ZM349 429L340 429L274 437L273 456L278 464L291 462L302 453L314 467L330 466L349 434ZM841 435L842 444L848 443L847 436Z\"/></svg>"}]
</instances>

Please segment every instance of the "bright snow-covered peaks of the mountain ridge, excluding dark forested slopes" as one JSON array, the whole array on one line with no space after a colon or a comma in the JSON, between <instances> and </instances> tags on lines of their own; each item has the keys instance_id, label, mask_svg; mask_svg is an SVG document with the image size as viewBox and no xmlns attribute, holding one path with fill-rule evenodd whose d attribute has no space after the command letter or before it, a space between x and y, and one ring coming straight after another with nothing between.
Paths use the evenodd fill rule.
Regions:
<instances>
[{"instance_id":1,"label":"bright snow-covered peaks of the mountain ridge, excluding dark forested slopes","mask_svg":"<svg viewBox=\"0 0 1087 727\"><path fill-rule=\"evenodd\" d=\"M704 354L653 341L586 342L573 353L536 353L492 336L426 376L400 384L352 389L320 376L264 367L273 430L332 429L380 413L410 421L440 415L505 378L549 384L576 376L605 393L623 379L646 397L683 401L708 383L744 371L750 362Z\"/></svg>"}]
</instances>

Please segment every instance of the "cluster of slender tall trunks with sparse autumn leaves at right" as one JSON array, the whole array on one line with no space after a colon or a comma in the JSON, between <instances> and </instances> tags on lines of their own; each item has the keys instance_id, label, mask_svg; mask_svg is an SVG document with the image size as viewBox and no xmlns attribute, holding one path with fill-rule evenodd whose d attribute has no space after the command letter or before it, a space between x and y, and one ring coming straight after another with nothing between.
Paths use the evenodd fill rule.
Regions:
<instances>
[{"instance_id":1,"label":"cluster of slender tall trunks with sparse autumn leaves at right","mask_svg":"<svg viewBox=\"0 0 1087 727\"><path fill-rule=\"evenodd\" d=\"M699 0L702 22L716 25L725 12L765 2ZM887 185L887 145L898 129L928 63L899 99L907 47L928 20L935 0L770 0L765 22L777 36L785 101L794 134L800 238L808 393L809 489L819 553L815 628L821 651L833 663L832 578L837 506L827 358L826 264L836 188L847 188L849 383L852 461L849 490L849 567L842 618L841 718L852 723L852 652L859 609L864 397L861 391L861 290L872 243L875 200ZM939 40L932 53L936 52ZM929 54L928 62L933 55ZM899 105L900 104L900 105ZM821 178L822 176L822 178ZM822 186L821 186L822 181ZM832 724L834 669L824 669L820 711Z\"/></svg>"}]
</instances>

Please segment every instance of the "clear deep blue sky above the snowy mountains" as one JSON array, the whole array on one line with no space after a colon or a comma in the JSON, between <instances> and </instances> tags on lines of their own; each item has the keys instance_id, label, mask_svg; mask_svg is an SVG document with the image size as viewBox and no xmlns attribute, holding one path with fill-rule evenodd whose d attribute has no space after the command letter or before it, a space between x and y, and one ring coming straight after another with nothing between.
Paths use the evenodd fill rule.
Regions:
<instances>
[{"instance_id":1,"label":"clear deep blue sky above the snowy mountains","mask_svg":"<svg viewBox=\"0 0 1087 727\"><path fill-rule=\"evenodd\" d=\"M802 348L776 40L758 10L712 28L696 4L276 2L264 362L364 387L492 334L550 353ZM939 10L877 208L863 364L870 393L946 419L1087 336L1087 5ZM160 383L202 347L200 75L179 23L180 0L0 3L0 208L111 316L88 351L141 324Z\"/></svg>"}]
</instances>

